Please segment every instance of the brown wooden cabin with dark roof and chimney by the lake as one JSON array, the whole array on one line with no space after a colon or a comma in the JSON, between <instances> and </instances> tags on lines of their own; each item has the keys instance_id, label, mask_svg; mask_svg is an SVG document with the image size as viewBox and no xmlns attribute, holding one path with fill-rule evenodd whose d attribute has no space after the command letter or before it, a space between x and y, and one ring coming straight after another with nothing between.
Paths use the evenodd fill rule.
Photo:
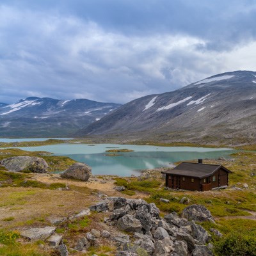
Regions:
<instances>
[{"instance_id":1,"label":"brown wooden cabin with dark roof and chimney by the lake","mask_svg":"<svg viewBox=\"0 0 256 256\"><path fill-rule=\"evenodd\" d=\"M172 170L162 172L166 175L166 187L192 191L207 191L228 186L230 170L222 165L198 163L180 163Z\"/></svg>"}]
</instances>

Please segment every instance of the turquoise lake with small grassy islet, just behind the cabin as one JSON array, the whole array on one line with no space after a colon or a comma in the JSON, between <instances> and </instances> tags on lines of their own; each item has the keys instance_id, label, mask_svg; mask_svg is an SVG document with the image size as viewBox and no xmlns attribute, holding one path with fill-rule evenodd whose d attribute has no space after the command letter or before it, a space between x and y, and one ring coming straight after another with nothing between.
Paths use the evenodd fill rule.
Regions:
<instances>
[{"instance_id":1,"label":"turquoise lake with small grassy islet, just behind the cabin","mask_svg":"<svg viewBox=\"0 0 256 256\"><path fill-rule=\"evenodd\" d=\"M1 141L1 140L0 140ZM134 152L122 152L122 156L106 156L111 148L127 148ZM230 157L230 148L200 147L156 147L118 144L58 144L40 147L22 147L28 151L47 151L55 156L68 156L81 163L92 166L92 173L100 175L130 176L139 175L140 170L156 167L173 167L177 161L198 158L218 159Z\"/></svg>"}]
</instances>

